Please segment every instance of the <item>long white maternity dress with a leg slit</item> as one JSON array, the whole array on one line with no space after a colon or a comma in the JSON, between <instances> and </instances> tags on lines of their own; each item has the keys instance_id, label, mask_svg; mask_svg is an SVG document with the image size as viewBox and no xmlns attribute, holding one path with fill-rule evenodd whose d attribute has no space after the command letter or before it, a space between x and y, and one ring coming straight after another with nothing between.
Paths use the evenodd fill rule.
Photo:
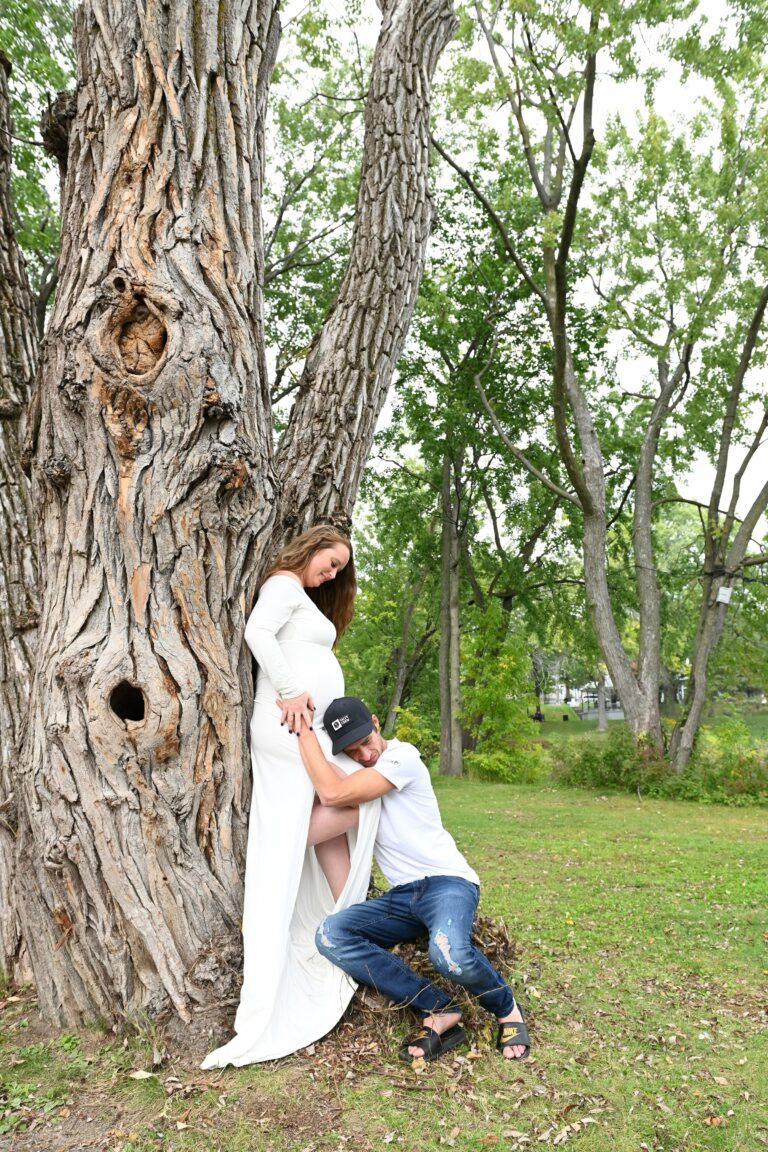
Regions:
<instances>
[{"instance_id":1,"label":"long white maternity dress with a leg slit","mask_svg":"<svg viewBox=\"0 0 768 1152\"><path fill-rule=\"evenodd\" d=\"M344 695L335 638L334 626L297 581L265 581L245 628L259 672L251 721L243 987L236 1034L210 1053L203 1068L276 1060L306 1047L339 1022L356 987L320 956L314 933L334 908L366 899L380 802L360 805L358 827L348 834L350 876L334 904L314 849L306 847L314 790L298 740L281 726L275 704L276 697L307 691L326 756L345 772L357 768L347 757L333 757L330 740L319 729L328 704Z\"/></svg>"}]
</instances>

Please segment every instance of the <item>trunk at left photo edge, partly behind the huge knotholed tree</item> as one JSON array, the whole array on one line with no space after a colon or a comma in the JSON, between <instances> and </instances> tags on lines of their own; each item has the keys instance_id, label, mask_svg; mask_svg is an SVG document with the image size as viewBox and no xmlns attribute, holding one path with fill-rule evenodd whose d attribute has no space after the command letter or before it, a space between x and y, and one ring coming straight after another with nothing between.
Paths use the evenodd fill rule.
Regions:
<instances>
[{"instance_id":1,"label":"trunk at left photo edge, partly behind the huge knotholed tree","mask_svg":"<svg viewBox=\"0 0 768 1152\"><path fill-rule=\"evenodd\" d=\"M37 550L21 419L37 366L33 301L10 204L10 65L0 53L0 972L30 976L15 889L16 758L37 641Z\"/></svg>"}]
</instances>

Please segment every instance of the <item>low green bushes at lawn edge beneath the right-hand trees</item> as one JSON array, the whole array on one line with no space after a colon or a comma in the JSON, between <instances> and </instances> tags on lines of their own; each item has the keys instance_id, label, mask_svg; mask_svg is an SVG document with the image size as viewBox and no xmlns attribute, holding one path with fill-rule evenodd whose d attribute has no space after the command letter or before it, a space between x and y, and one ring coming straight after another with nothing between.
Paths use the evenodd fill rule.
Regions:
<instances>
[{"instance_id":1,"label":"low green bushes at lawn edge beneath the right-hand trees","mask_svg":"<svg viewBox=\"0 0 768 1152\"><path fill-rule=\"evenodd\" d=\"M684 772L638 746L625 727L604 738L571 741L554 750L554 776L581 788L616 788L709 804L768 803L768 746L754 745L738 717L702 728Z\"/></svg>"}]
</instances>

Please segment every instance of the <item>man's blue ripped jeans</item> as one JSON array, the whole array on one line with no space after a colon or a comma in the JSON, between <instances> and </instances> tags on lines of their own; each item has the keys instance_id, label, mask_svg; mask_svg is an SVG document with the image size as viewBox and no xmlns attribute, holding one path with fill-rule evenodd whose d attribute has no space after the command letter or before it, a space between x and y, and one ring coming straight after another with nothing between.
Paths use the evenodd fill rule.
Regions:
<instances>
[{"instance_id":1,"label":"man's blue ripped jeans","mask_svg":"<svg viewBox=\"0 0 768 1152\"><path fill-rule=\"evenodd\" d=\"M457 876L401 884L375 900L326 917L315 943L358 984L431 1016L451 1010L450 996L387 950L426 930L432 967L461 984L494 1016L508 1016L515 1007L511 988L470 940L479 896L476 884Z\"/></svg>"}]
</instances>

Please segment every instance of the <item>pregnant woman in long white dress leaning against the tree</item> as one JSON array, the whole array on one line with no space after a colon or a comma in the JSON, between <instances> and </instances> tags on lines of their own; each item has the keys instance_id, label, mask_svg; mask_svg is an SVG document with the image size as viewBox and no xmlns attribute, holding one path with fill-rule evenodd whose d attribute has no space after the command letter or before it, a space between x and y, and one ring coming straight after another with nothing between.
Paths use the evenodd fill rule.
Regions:
<instances>
[{"instance_id":1,"label":"pregnant woman in long white dress leaning against the tree","mask_svg":"<svg viewBox=\"0 0 768 1152\"><path fill-rule=\"evenodd\" d=\"M365 900L379 802L341 814L319 805L296 732L301 718L312 725L344 694L333 645L351 619L355 591L350 541L319 525L280 553L245 627L259 670L243 987L236 1036L203 1068L275 1060L306 1047L337 1023L352 996L349 978L317 952L314 933L333 909ZM325 732L318 738L333 759ZM356 767L345 757L337 765Z\"/></svg>"}]
</instances>

